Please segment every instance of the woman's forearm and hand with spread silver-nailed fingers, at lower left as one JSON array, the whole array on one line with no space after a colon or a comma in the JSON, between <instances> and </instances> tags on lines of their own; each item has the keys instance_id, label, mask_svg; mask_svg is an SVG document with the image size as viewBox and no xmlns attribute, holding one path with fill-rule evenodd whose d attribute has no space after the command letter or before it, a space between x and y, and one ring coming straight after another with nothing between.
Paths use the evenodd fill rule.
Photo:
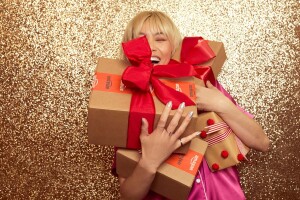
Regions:
<instances>
[{"instance_id":1,"label":"woman's forearm and hand with spread silver-nailed fingers, at lower left","mask_svg":"<svg viewBox=\"0 0 300 200\"><path fill-rule=\"evenodd\" d=\"M184 109L184 104L181 105L166 129L166 122L172 107L171 103L168 103L165 107L156 129L151 134L148 133L147 120L142 119L140 135L142 156L133 173L128 178L119 177L121 199L143 199L149 192L158 167L175 149L181 146L178 138L184 132L193 114L189 113L179 125L179 128L177 128ZM198 132L193 133L182 138L181 141L187 143L197 135L199 135Z\"/></svg>"}]
</instances>

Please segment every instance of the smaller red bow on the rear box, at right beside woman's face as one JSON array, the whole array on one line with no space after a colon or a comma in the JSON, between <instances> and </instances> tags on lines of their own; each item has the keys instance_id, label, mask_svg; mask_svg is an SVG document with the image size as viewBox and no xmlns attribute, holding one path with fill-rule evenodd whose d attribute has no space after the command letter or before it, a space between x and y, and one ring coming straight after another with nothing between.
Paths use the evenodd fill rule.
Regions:
<instances>
[{"instance_id":1,"label":"smaller red bow on the rear box, at right beside woman's face","mask_svg":"<svg viewBox=\"0 0 300 200\"><path fill-rule=\"evenodd\" d=\"M213 85L216 85L216 79L210 66L201 66L216 55L208 45L208 41L202 37L185 37L182 41L182 49L180 61L195 65L194 69L197 72L196 77L206 83L209 80Z\"/></svg>"}]
</instances>

